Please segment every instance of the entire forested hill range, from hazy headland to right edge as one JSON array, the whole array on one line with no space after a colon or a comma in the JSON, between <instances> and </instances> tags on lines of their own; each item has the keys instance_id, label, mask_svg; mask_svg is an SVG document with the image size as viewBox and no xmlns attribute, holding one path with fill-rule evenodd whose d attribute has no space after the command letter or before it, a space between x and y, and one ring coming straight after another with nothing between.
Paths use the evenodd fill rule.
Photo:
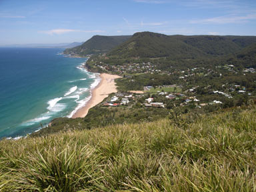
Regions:
<instances>
[{"instance_id":1,"label":"entire forested hill range, from hazy headland to right edge","mask_svg":"<svg viewBox=\"0 0 256 192\"><path fill-rule=\"evenodd\" d=\"M64 53L80 56L107 53L107 57L112 59L202 59L233 54L253 43L256 43L254 36L185 36L141 32L132 36L95 35L83 45L66 49Z\"/></svg>"}]
</instances>

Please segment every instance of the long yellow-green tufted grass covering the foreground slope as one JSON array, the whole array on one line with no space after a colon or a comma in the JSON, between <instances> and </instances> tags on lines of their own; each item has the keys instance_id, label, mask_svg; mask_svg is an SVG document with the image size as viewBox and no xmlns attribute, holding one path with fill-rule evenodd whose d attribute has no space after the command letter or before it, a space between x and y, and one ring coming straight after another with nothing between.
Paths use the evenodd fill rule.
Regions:
<instances>
[{"instance_id":1,"label":"long yellow-green tufted grass covering the foreground slope","mask_svg":"<svg viewBox=\"0 0 256 192\"><path fill-rule=\"evenodd\" d=\"M0 141L0 191L255 191L256 108L186 118Z\"/></svg>"}]
</instances>

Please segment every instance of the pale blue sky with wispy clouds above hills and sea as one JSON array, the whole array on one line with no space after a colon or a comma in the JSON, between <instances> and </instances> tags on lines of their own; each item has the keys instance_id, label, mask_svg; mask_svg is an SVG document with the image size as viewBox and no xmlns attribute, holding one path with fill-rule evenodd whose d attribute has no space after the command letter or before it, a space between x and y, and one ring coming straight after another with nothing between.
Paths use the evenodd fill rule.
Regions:
<instances>
[{"instance_id":1,"label":"pale blue sky with wispy clouds above hills and sea","mask_svg":"<svg viewBox=\"0 0 256 192\"><path fill-rule=\"evenodd\" d=\"M0 0L0 45L93 35L256 35L255 0Z\"/></svg>"}]
</instances>

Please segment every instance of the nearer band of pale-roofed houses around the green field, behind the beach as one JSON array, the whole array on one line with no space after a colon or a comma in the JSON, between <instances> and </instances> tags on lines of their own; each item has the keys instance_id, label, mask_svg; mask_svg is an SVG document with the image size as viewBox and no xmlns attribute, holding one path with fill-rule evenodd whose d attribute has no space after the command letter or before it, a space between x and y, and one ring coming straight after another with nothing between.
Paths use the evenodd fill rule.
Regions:
<instances>
[{"instance_id":1,"label":"nearer band of pale-roofed houses around the green field, behind the beach","mask_svg":"<svg viewBox=\"0 0 256 192\"><path fill-rule=\"evenodd\" d=\"M185 94L179 92L165 92L165 89L169 87L175 87L165 85L163 87L153 88L151 86L144 87L147 91L129 91L129 92L118 92L111 94L111 97L108 97L106 101L101 103L102 107L158 107L158 108L167 108L172 109L174 107L192 107L192 108L201 108L207 105L215 105L215 104L223 104L222 101L218 101L213 99L212 101L208 101L205 99L201 99L201 95L197 95L197 88L193 87L192 89L188 89L185 91ZM223 85L225 87L225 85ZM176 88L176 87L175 87ZM174 89L175 89L174 88ZM204 87L205 89L209 87ZM151 89L161 89L161 91L151 91ZM179 88L178 88L179 89ZM177 90L177 88L175 89ZM209 95L213 95L216 98L219 97L221 100L223 99L233 99L231 95L251 95L251 93L247 93L245 87L241 87L240 85L233 85L228 89L228 93L224 93L222 91L209 91ZM138 93L140 92L140 93ZM141 93L142 92L142 93ZM200 98L200 100L198 99Z\"/></svg>"}]
</instances>

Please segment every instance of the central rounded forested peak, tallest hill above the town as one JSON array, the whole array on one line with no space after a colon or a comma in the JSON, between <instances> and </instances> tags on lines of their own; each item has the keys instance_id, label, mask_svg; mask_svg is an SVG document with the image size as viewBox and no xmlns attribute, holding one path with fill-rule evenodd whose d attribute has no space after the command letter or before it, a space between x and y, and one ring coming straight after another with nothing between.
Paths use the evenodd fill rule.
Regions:
<instances>
[{"instance_id":1,"label":"central rounded forested peak, tallest hill above the town","mask_svg":"<svg viewBox=\"0 0 256 192\"><path fill-rule=\"evenodd\" d=\"M118 57L195 57L205 53L175 37L159 33L135 33L131 39L115 47L108 54Z\"/></svg>"}]
</instances>

